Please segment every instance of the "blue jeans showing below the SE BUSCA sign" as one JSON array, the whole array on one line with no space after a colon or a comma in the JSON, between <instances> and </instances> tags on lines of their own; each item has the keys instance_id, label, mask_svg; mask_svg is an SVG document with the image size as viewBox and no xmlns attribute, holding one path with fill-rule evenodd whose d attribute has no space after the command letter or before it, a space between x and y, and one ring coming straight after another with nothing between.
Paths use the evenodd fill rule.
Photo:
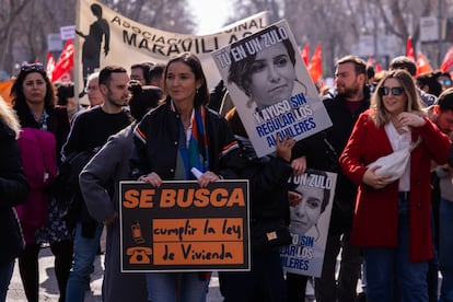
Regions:
<instances>
[{"instance_id":1,"label":"blue jeans showing below the SE BUSCA sign","mask_svg":"<svg viewBox=\"0 0 453 302\"><path fill-rule=\"evenodd\" d=\"M200 280L198 272L148 272L148 302L205 302L208 283L209 278Z\"/></svg>"}]
</instances>

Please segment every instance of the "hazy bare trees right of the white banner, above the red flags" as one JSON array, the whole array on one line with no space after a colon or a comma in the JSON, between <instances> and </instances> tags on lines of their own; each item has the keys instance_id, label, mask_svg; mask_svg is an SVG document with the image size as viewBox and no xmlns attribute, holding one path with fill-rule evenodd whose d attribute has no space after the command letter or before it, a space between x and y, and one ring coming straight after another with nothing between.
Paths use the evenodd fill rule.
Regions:
<instances>
[{"instance_id":1,"label":"hazy bare trees right of the white banner, above the red flags","mask_svg":"<svg viewBox=\"0 0 453 302\"><path fill-rule=\"evenodd\" d=\"M406 40L411 36L417 50L420 18L437 15L440 2L453 10L450 8L453 0L236 0L234 19L230 21L263 9L271 11L275 20L284 18L301 46L310 43L313 50L322 43L324 70L328 76L333 73L335 60L351 54L362 35L374 36L374 50L382 43L382 36L395 36L396 55L405 55ZM453 11L442 13L452 15Z\"/></svg>"}]
</instances>

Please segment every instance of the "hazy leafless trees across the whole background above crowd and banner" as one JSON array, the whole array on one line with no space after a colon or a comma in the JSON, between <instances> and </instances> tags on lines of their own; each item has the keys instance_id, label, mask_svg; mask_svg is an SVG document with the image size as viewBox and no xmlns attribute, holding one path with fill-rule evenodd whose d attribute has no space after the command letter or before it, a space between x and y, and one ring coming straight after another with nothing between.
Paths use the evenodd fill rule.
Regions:
<instances>
[{"instance_id":1,"label":"hazy leafless trees across the whole background above crowd and banner","mask_svg":"<svg viewBox=\"0 0 453 302\"><path fill-rule=\"evenodd\" d=\"M188 0L103 0L127 18L164 31L195 33L197 20ZM419 44L420 18L445 19L453 15L453 0L233 0L226 12L231 23L267 10L270 22L286 19L298 43L323 46L325 74L332 74L335 60L355 54L353 46L363 35L373 36L375 59L385 66L388 56L380 55L383 37L392 35L397 55L406 51L410 35L416 51L439 66L450 45ZM76 0L0 0L0 71L11 74L21 61L44 61L47 35L60 26L76 23Z\"/></svg>"}]
</instances>

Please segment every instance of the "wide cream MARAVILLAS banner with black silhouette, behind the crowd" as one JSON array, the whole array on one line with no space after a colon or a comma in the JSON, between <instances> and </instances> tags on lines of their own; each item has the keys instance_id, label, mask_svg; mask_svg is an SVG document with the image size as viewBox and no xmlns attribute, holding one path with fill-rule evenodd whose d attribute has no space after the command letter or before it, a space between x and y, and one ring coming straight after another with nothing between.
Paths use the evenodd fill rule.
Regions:
<instances>
[{"instance_id":1,"label":"wide cream MARAVILLAS banner with black silhouette, behind the crowd","mask_svg":"<svg viewBox=\"0 0 453 302\"><path fill-rule=\"evenodd\" d=\"M116 63L129 70L132 63L166 63L174 55L197 55L207 74L209 88L221 77L209 55L268 25L262 12L223 27L210 35L183 35L149 27L127 19L95 0L79 0L76 24L76 74L81 91L83 78L97 69Z\"/></svg>"}]
</instances>

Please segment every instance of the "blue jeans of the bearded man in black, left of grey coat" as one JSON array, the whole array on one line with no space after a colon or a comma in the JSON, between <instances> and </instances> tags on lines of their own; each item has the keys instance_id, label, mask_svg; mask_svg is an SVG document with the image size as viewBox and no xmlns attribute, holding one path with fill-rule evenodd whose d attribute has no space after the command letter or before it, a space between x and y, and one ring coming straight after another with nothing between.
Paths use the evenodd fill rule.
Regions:
<instances>
[{"instance_id":1,"label":"blue jeans of the bearded man in black, left of grey coat","mask_svg":"<svg viewBox=\"0 0 453 302\"><path fill-rule=\"evenodd\" d=\"M67 302L83 302L85 299L86 282L93 269L102 228L103 224L98 223L94 237L88 239L82 236L82 223L78 222L76 225L74 259L66 289Z\"/></svg>"}]
</instances>

